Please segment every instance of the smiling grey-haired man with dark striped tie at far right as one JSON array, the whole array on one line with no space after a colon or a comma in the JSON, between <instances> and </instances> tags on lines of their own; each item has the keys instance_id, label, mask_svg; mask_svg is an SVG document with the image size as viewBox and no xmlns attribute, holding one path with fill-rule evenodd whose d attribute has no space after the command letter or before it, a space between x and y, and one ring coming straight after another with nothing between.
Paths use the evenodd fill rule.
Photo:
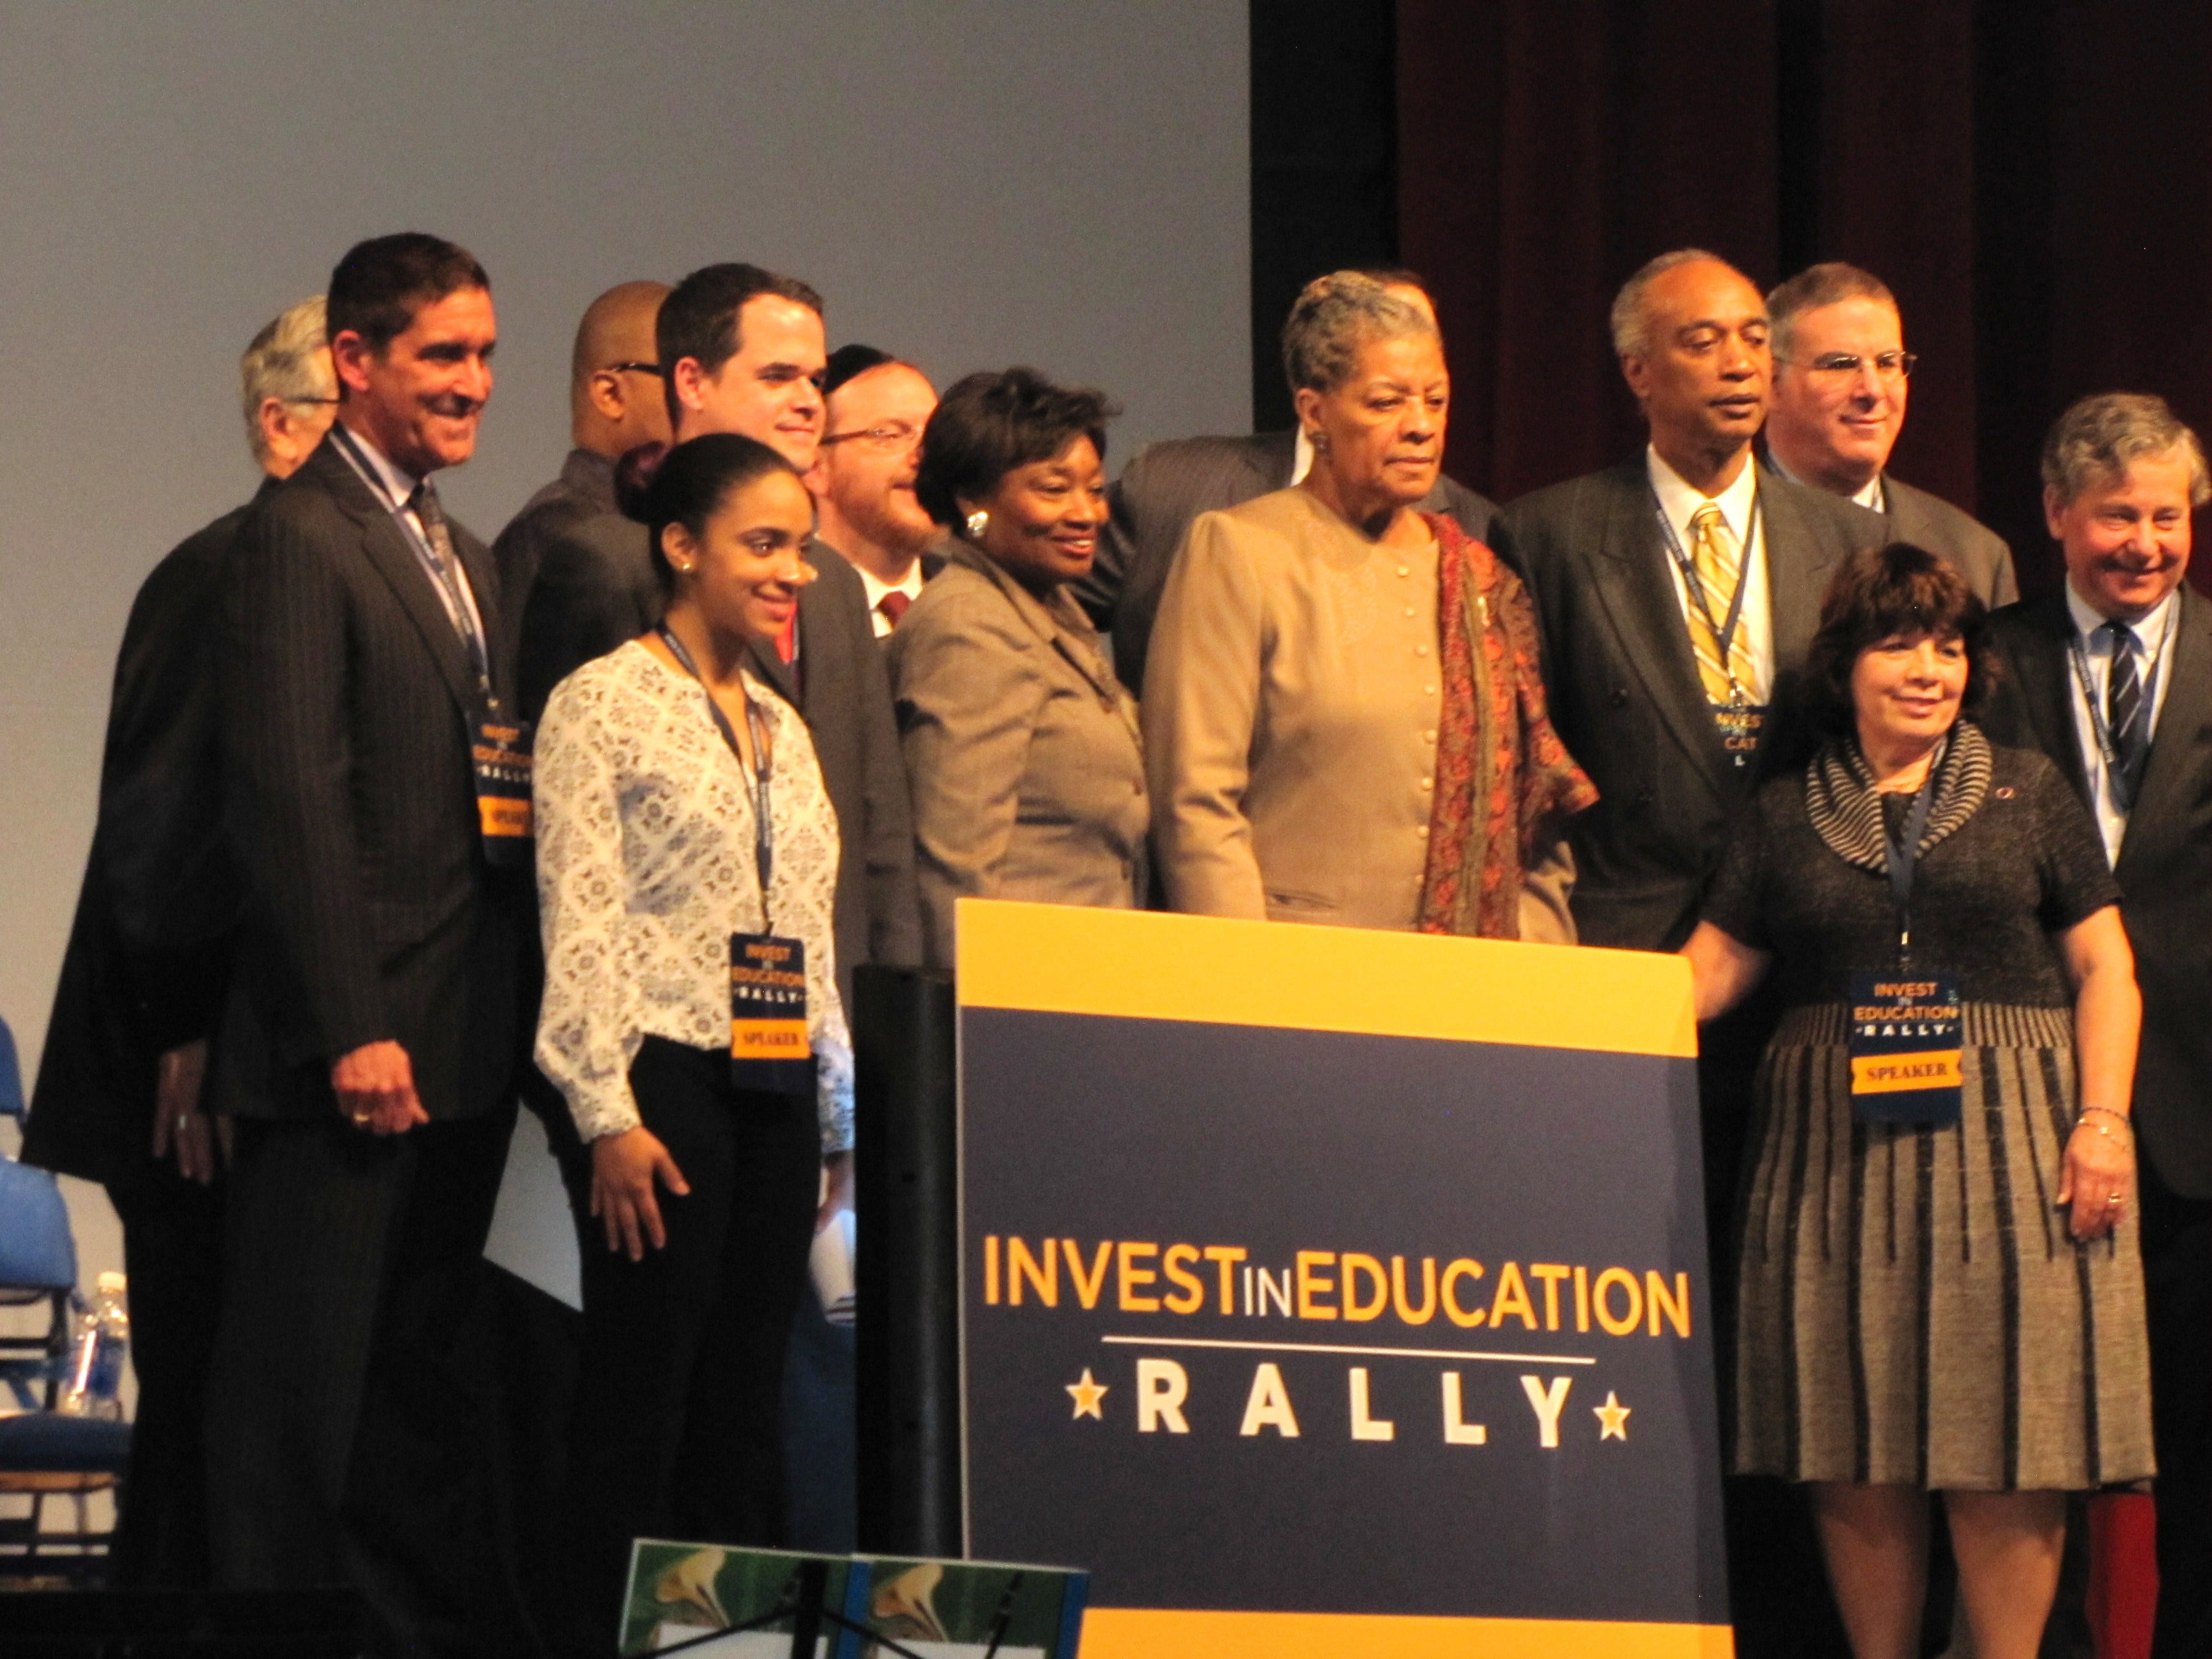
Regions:
<instances>
[{"instance_id":1,"label":"smiling grey-haired man with dark striped tie at far right","mask_svg":"<svg viewBox=\"0 0 2212 1659\"><path fill-rule=\"evenodd\" d=\"M2194 595L2205 456L2163 398L2084 398L2044 440L2059 593L1991 619L1982 723L2048 754L2097 818L2143 989L2135 1144L2159 1613L2154 1659L2212 1652L2212 606Z\"/></svg>"}]
</instances>

